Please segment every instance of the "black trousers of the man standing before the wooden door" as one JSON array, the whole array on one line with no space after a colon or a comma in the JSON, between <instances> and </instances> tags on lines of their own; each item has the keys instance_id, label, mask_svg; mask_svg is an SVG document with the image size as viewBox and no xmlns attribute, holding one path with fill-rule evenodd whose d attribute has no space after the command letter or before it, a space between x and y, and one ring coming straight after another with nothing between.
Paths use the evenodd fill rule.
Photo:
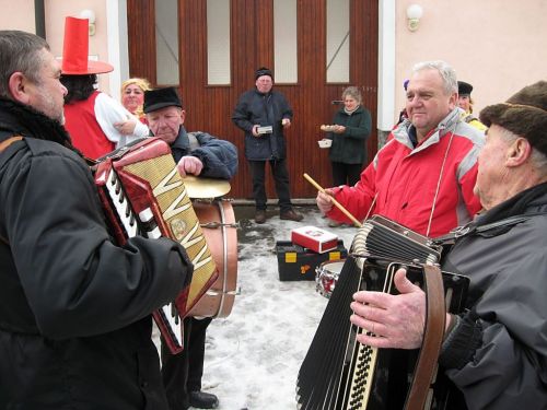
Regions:
<instances>
[{"instance_id":1,"label":"black trousers of the man standing before the wooden door","mask_svg":"<svg viewBox=\"0 0 547 410\"><path fill-rule=\"evenodd\" d=\"M286 160L269 161L248 161L251 174L253 176L253 198L257 210L266 210L266 163L269 162L274 181L276 183L276 192L279 199L280 212L287 212L292 209L291 192L289 186L289 171Z\"/></svg>"}]
</instances>

